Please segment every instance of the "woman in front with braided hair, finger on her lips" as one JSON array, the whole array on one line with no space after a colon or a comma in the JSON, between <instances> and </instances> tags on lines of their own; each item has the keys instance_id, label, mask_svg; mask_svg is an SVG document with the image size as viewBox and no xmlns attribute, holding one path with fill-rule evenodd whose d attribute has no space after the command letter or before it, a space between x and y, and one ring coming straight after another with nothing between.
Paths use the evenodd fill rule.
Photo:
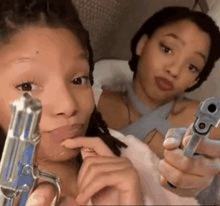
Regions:
<instances>
[{"instance_id":1,"label":"woman in front with braided hair, finger on her lips","mask_svg":"<svg viewBox=\"0 0 220 206\"><path fill-rule=\"evenodd\" d=\"M138 173L119 157L126 145L95 108L89 36L71 0L2 0L0 9L1 152L10 102L30 92L43 105L36 163L60 178L60 205L143 204ZM92 156L82 161L81 148ZM42 183L28 204L48 206L54 195Z\"/></svg>"}]
</instances>

